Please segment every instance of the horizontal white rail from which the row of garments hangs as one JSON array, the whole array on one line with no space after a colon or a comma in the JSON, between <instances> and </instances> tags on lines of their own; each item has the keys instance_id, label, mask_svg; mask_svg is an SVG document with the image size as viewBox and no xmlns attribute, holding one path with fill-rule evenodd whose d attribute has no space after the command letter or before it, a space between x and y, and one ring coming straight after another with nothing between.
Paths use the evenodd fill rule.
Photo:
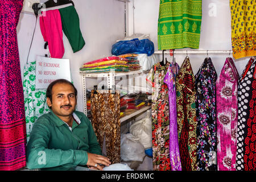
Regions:
<instances>
[{"instance_id":1,"label":"horizontal white rail from which the row of garments hangs","mask_svg":"<svg viewBox=\"0 0 256 182\"><path fill-rule=\"evenodd\" d=\"M155 54L161 54L163 53L162 51L155 51ZM169 52L165 52L166 54L169 54ZM184 50L184 51L174 51L175 55L187 55L187 54L195 54L195 55L205 55L205 54L231 54L233 53L232 50L196 50L196 51L191 51L191 50Z\"/></svg>"}]
</instances>

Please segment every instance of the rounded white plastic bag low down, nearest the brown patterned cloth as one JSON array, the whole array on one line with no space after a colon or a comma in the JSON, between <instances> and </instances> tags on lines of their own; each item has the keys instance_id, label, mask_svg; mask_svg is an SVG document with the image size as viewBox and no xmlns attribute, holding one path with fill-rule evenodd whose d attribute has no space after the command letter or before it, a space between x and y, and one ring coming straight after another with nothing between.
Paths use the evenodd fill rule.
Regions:
<instances>
[{"instance_id":1,"label":"rounded white plastic bag low down, nearest the brown patterned cloth","mask_svg":"<svg viewBox=\"0 0 256 182\"><path fill-rule=\"evenodd\" d=\"M142 162L146 154L143 145L139 142L139 138L128 133L121 135L120 155L121 159L125 161L135 160Z\"/></svg>"}]
</instances>

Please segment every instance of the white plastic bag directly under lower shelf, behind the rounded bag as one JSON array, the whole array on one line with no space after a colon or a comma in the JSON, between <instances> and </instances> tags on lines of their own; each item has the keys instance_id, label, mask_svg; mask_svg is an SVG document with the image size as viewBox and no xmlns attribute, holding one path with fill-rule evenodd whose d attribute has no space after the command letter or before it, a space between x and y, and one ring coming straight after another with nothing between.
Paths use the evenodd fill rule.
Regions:
<instances>
[{"instance_id":1,"label":"white plastic bag directly under lower shelf, behind the rounded bag","mask_svg":"<svg viewBox=\"0 0 256 182\"><path fill-rule=\"evenodd\" d=\"M139 138L139 142L144 146L144 149L152 147L152 119L149 110L147 110L146 118L130 126L130 133Z\"/></svg>"}]
</instances>

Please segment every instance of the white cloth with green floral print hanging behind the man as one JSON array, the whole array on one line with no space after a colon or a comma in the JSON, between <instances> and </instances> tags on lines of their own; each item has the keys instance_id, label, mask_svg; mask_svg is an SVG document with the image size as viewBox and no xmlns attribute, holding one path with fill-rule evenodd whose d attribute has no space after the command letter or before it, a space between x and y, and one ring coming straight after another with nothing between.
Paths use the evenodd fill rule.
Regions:
<instances>
[{"instance_id":1,"label":"white cloth with green floral print hanging behind the man","mask_svg":"<svg viewBox=\"0 0 256 182\"><path fill-rule=\"evenodd\" d=\"M26 115L27 142L36 119L49 112L46 103L46 89L35 89L36 61L27 63L24 67L24 106Z\"/></svg>"}]
</instances>

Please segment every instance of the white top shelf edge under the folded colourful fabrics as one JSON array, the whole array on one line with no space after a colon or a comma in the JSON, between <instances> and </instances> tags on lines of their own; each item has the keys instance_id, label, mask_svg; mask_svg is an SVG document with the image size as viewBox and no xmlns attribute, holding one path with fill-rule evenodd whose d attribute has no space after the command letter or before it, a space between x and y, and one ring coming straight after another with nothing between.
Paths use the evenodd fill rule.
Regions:
<instances>
[{"instance_id":1,"label":"white top shelf edge under the folded colourful fabrics","mask_svg":"<svg viewBox=\"0 0 256 182\"><path fill-rule=\"evenodd\" d=\"M131 72L106 72L106 73L86 73L85 71L80 71L80 73L85 77L109 77L110 73L113 73L113 76L126 76L143 73L143 71L131 71Z\"/></svg>"}]
</instances>

